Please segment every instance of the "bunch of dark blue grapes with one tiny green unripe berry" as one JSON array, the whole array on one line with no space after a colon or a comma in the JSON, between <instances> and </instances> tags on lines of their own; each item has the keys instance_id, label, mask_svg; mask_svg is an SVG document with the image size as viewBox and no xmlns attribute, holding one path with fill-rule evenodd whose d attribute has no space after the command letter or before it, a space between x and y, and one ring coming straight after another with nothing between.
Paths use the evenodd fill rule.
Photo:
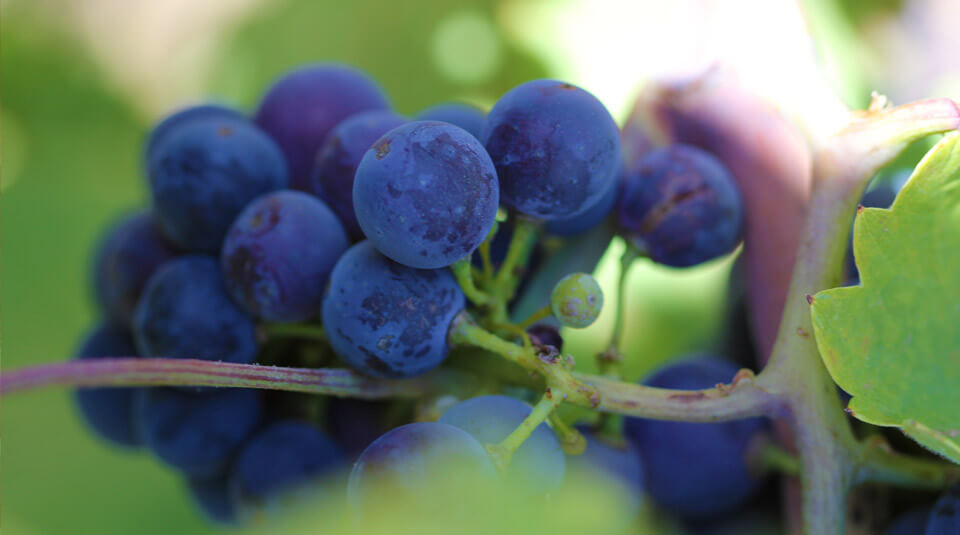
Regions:
<instances>
[{"instance_id":1,"label":"bunch of dark blue grapes with one tiny green unripe berry","mask_svg":"<svg viewBox=\"0 0 960 535\"><path fill-rule=\"evenodd\" d=\"M558 325L590 325L604 296L592 276L572 273L554 281L543 322L510 323L506 307L550 243L606 226L636 254L687 267L740 242L730 172L699 149L650 150L638 139L622 141L599 100L561 81L521 84L489 113L446 103L409 118L369 76L332 64L282 76L252 117L212 104L179 110L147 137L150 208L112 228L95 255L103 319L78 358L347 366L404 379L445 365L467 322L556 364ZM705 388L735 372L697 357L647 384ZM356 511L382 500L444 507L431 485L450 474L455 485L506 485L536 500L568 471L590 472L623 485L637 507L649 497L689 517L735 508L758 485L745 459L760 421L628 418L622 433L581 424L586 450L575 456L544 418L516 438L545 401L479 394L433 412L209 387L86 389L76 399L104 439L182 474L219 523L333 495L347 471Z\"/></svg>"}]
</instances>

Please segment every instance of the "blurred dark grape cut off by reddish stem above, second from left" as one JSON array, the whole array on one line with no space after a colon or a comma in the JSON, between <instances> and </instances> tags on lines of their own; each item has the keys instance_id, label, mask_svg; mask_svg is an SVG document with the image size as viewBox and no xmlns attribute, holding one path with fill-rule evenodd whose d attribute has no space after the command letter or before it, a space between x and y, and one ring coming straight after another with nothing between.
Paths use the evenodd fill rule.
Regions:
<instances>
[{"instance_id":1,"label":"blurred dark grape cut off by reddish stem above, second from left","mask_svg":"<svg viewBox=\"0 0 960 535\"><path fill-rule=\"evenodd\" d=\"M213 477L239 451L263 416L260 393L242 388L144 388L134 398L144 445L167 465Z\"/></svg>"}]
</instances>

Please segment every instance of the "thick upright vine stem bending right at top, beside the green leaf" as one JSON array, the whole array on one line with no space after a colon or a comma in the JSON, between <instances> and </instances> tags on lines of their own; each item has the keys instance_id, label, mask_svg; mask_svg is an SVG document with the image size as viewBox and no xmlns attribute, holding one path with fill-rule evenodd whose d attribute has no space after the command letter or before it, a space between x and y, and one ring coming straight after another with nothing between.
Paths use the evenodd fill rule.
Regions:
<instances>
[{"instance_id":1,"label":"thick upright vine stem bending right at top, beside the green leaf","mask_svg":"<svg viewBox=\"0 0 960 535\"><path fill-rule=\"evenodd\" d=\"M960 126L947 100L887 108L877 98L816 155L810 213L767 369L757 382L789 406L801 462L803 532L842 533L858 445L827 373L810 319L810 296L839 284L850 220L873 174L907 143Z\"/></svg>"}]
</instances>

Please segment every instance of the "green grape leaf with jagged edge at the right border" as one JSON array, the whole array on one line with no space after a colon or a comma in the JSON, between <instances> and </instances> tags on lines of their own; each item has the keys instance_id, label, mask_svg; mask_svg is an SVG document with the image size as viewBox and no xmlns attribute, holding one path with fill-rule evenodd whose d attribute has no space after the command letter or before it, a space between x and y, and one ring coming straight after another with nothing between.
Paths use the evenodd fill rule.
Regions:
<instances>
[{"instance_id":1,"label":"green grape leaf with jagged edge at the right border","mask_svg":"<svg viewBox=\"0 0 960 535\"><path fill-rule=\"evenodd\" d=\"M818 293L814 332L849 411L960 463L960 136L923 158L889 209L854 223L860 286Z\"/></svg>"}]
</instances>

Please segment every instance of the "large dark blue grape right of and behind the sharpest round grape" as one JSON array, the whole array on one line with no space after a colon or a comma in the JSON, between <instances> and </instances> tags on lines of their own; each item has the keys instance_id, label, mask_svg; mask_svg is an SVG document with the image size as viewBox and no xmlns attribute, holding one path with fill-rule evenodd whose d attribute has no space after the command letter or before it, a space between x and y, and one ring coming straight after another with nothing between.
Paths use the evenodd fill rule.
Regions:
<instances>
[{"instance_id":1,"label":"large dark blue grape right of and behind the sharpest round grape","mask_svg":"<svg viewBox=\"0 0 960 535\"><path fill-rule=\"evenodd\" d=\"M503 203L546 219L594 205L616 179L620 135L603 104L579 87L534 80L490 110L481 140L500 178Z\"/></svg>"}]
</instances>

